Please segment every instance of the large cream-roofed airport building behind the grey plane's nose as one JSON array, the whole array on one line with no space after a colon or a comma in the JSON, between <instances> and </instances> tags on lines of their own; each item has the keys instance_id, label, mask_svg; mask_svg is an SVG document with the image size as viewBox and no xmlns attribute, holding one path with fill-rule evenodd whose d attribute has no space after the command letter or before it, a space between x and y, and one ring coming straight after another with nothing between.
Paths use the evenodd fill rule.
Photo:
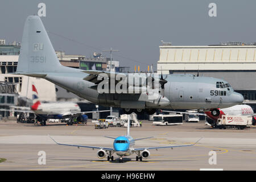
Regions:
<instances>
[{"instance_id":1,"label":"large cream-roofed airport building behind the grey plane's nose","mask_svg":"<svg viewBox=\"0 0 256 182\"><path fill-rule=\"evenodd\" d=\"M160 46L158 73L192 74L228 81L256 111L256 46L238 42L210 46Z\"/></svg>"}]
</instances>

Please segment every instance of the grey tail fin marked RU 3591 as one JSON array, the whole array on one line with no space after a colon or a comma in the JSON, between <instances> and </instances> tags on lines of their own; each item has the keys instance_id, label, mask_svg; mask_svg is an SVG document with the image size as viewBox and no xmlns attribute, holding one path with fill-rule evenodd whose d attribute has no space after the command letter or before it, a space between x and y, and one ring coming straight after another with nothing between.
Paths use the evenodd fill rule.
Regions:
<instances>
[{"instance_id":1,"label":"grey tail fin marked RU 3591","mask_svg":"<svg viewBox=\"0 0 256 182\"><path fill-rule=\"evenodd\" d=\"M42 75L47 72L63 72L63 67L40 17L28 16L24 24L16 73L35 73L36 76L36 73ZM64 70L67 70L67 67L64 67Z\"/></svg>"}]
</instances>

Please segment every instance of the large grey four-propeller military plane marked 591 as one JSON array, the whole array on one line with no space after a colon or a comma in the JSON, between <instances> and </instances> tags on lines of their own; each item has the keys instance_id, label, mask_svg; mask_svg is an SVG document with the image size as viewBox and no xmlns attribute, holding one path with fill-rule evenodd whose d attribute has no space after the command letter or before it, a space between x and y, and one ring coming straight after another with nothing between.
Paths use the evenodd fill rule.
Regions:
<instances>
[{"instance_id":1,"label":"large grey four-propeller military plane marked 591","mask_svg":"<svg viewBox=\"0 0 256 182\"><path fill-rule=\"evenodd\" d=\"M218 78L162 74L155 76L153 73L143 73L141 76L136 73L85 71L64 67L57 59L39 16L28 16L26 19L18 68L14 74L44 78L95 104L121 107L126 114L133 111L152 114L156 109L200 109L217 115L218 108L243 102L241 94L234 92L228 82ZM133 82L134 77L139 76L144 81ZM148 80L151 80L151 86ZM127 90L132 91L113 92L112 88L116 89L118 85L122 91L126 85ZM139 88L138 92L136 88Z\"/></svg>"}]
</instances>

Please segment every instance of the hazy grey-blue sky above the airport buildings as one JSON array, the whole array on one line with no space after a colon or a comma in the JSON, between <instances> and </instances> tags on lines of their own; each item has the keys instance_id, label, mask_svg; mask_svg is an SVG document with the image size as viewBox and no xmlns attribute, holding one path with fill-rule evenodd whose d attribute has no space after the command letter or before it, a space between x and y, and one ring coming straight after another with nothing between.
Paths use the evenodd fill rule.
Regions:
<instances>
[{"instance_id":1,"label":"hazy grey-blue sky above the airport buildings","mask_svg":"<svg viewBox=\"0 0 256 182\"><path fill-rule=\"evenodd\" d=\"M119 50L113 59L131 70L156 69L160 40L176 46L256 42L255 0L1 0L0 38L21 41L24 21L38 14L40 2L46 3L42 21L54 33L49 38L56 50L89 57L112 47ZM208 15L212 2L217 17Z\"/></svg>"}]
</instances>

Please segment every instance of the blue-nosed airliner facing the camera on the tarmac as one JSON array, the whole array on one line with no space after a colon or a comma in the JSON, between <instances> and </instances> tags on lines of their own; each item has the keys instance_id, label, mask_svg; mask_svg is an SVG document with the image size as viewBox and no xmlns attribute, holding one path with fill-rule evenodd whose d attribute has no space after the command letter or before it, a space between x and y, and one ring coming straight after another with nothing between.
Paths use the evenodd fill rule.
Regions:
<instances>
[{"instance_id":1,"label":"blue-nosed airliner facing the camera on the tarmac","mask_svg":"<svg viewBox=\"0 0 256 182\"><path fill-rule=\"evenodd\" d=\"M97 148L100 149L97 151L97 156L100 159L105 158L106 154L108 155L108 160L114 160L114 152L119 156L119 162L122 163L123 162L123 156L129 156L133 153L137 154L136 156L136 160L141 160L143 159L147 159L150 156L150 152L148 150L151 149L160 149L160 148L174 148L174 147L188 147L188 146L193 146L195 145L197 142L199 142L199 140L197 140L196 143L193 144L188 144L188 145L181 145L181 146L160 146L160 147L141 147L141 148L134 148L135 145L135 141L136 140L142 140L142 139L148 139L148 138L152 138L152 137L146 137L146 138L137 138L137 139L133 139L133 137L130 136L130 117L128 116L128 126L127 126L127 134L126 135L122 135L121 137L106 137L106 138L112 138L114 139L113 142L113 148L109 148L109 147L96 147L96 146L82 146L82 145L75 145L75 144L63 144L63 143L57 143L51 136L49 136L56 144L58 145L62 145L62 146L72 146L72 147L85 147L85 148Z\"/></svg>"}]
</instances>

